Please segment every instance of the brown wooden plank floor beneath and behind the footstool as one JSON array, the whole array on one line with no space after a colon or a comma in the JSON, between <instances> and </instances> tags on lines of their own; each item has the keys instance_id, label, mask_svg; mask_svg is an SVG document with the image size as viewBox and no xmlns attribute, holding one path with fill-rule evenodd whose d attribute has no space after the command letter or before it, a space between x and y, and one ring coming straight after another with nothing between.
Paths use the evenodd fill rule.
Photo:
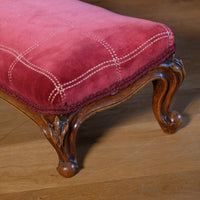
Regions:
<instances>
[{"instance_id":1,"label":"brown wooden plank floor beneath and behind the footstool","mask_svg":"<svg viewBox=\"0 0 200 200\"><path fill-rule=\"evenodd\" d=\"M1 200L200 199L200 1L88 0L125 15L160 21L176 35L187 77L174 98L183 115L164 134L151 109L152 86L86 121L79 131L80 172L65 179L57 155L31 121L0 102Z\"/></svg>"}]
</instances>

